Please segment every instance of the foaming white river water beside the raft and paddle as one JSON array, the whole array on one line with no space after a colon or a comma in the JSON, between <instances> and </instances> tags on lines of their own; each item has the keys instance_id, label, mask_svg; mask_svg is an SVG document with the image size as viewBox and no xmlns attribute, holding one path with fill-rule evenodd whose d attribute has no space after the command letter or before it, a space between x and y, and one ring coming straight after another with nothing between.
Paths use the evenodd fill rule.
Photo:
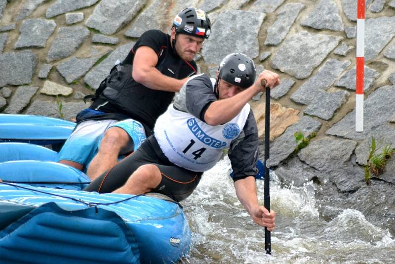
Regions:
<instances>
[{"instance_id":1,"label":"foaming white river water beside the raft and paddle","mask_svg":"<svg viewBox=\"0 0 395 264\"><path fill-rule=\"evenodd\" d=\"M388 230L351 209L340 210L332 220L324 219L318 213L312 182L281 188L273 172L270 194L276 230L272 232L272 255L265 254L264 228L238 202L230 167L227 158L221 160L182 202L193 236L190 256L183 264L395 263L395 239ZM257 181L257 189L263 204L263 180Z\"/></svg>"}]
</instances>

